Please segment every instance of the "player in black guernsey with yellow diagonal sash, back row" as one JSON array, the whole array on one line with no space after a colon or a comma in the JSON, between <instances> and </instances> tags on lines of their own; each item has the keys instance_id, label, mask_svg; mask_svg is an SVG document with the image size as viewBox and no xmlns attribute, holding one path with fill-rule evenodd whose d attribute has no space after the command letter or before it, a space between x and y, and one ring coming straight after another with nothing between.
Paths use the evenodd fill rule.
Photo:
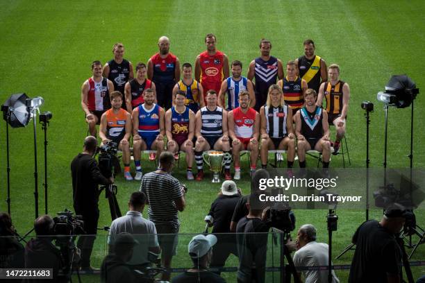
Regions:
<instances>
[{"instance_id":1,"label":"player in black guernsey with yellow diagonal sash, back row","mask_svg":"<svg viewBox=\"0 0 425 283\"><path fill-rule=\"evenodd\" d=\"M303 42L304 54L295 60L299 76L306 80L309 89L315 89L319 92L320 79L322 83L328 80L326 62L315 55L315 42L313 40L305 40Z\"/></svg>"}]
</instances>

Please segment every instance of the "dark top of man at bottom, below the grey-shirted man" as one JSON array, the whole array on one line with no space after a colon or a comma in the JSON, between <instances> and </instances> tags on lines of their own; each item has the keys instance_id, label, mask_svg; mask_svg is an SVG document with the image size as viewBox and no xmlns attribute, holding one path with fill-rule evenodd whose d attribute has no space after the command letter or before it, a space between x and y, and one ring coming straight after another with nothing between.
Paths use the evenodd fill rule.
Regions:
<instances>
[{"instance_id":1,"label":"dark top of man at bottom, below the grey-shirted man","mask_svg":"<svg viewBox=\"0 0 425 283\"><path fill-rule=\"evenodd\" d=\"M137 282L134 271L125 261L117 257L115 254L110 253L103 259L101 266L101 282Z\"/></svg>"}]
</instances>

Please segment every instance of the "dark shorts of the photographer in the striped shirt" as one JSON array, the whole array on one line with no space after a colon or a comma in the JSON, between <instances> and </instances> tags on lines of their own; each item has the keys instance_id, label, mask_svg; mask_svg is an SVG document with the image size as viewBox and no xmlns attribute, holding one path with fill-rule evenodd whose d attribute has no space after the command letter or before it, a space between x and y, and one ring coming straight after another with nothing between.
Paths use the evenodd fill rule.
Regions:
<instances>
[{"instance_id":1,"label":"dark shorts of the photographer in the striped shirt","mask_svg":"<svg viewBox=\"0 0 425 283\"><path fill-rule=\"evenodd\" d=\"M174 223L155 224L158 234L158 243L161 248L161 257L176 255L178 245L178 230L180 225Z\"/></svg>"}]
</instances>

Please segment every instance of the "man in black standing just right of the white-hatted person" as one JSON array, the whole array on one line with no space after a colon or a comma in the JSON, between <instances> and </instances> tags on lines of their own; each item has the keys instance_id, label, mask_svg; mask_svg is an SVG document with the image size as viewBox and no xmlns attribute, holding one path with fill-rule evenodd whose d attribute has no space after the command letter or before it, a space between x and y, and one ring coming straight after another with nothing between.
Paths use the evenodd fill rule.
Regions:
<instances>
[{"instance_id":1,"label":"man in black standing just right of the white-hatted person","mask_svg":"<svg viewBox=\"0 0 425 283\"><path fill-rule=\"evenodd\" d=\"M270 226L265 223L263 209L256 209L250 203L258 201L258 194L251 194L247 207L249 214L238 222L238 283L264 283L267 254L267 232ZM249 233L249 234L245 234ZM252 234L258 233L258 234Z\"/></svg>"}]
</instances>

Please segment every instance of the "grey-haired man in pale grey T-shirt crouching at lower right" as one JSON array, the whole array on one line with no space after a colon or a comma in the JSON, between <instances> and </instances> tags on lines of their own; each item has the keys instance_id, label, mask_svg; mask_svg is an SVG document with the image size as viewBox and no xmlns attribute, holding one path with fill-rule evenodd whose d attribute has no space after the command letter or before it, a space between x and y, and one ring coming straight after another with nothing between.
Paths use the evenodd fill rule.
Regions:
<instances>
[{"instance_id":1,"label":"grey-haired man in pale grey T-shirt crouching at lower right","mask_svg":"<svg viewBox=\"0 0 425 283\"><path fill-rule=\"evenodd\" d=\"M295 242L297 252L294 254L294 266L327 266L328 244L316 242L316 228L311 224L304 224L299 228L297 241ZM301 275L301 272L299 272ZM328 271L303 271L306 283L328 282ZM340 280L332 271L332 282L339 283Z\"/></svg>"}]
</instances>

